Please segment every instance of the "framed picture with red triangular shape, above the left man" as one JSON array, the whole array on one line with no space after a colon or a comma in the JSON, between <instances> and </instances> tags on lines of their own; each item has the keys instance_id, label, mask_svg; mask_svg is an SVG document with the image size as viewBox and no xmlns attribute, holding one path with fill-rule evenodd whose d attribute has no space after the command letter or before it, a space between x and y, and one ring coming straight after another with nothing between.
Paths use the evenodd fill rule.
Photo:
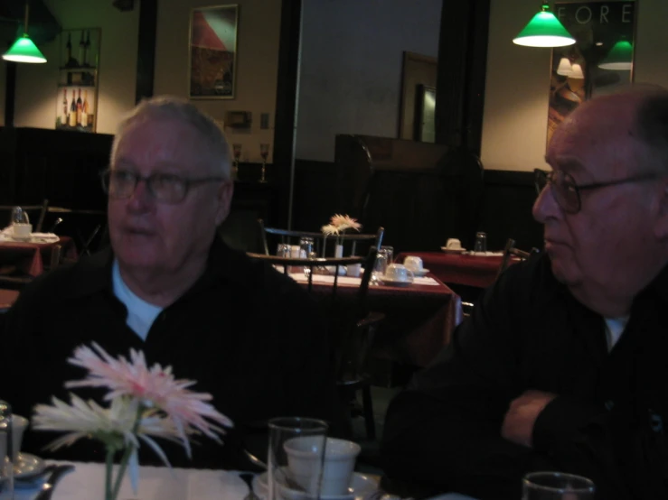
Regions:
<instances>
[{"instance_id":1,"label":"framed picture with red triangular shape, above the left man","mask_svg":"<svg viewBox=\"0 0 668 500\"><path fill-rule=\"evenodd\" d=\"M239 5L194 8L190 16L189 95L233 99Z\"/></svg>"}]
</instances>

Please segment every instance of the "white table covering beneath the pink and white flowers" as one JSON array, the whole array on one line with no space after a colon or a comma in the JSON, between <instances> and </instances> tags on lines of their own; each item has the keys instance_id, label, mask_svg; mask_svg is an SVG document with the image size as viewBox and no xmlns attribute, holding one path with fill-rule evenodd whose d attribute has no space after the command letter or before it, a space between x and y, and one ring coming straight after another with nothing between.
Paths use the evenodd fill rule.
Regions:
<instances>
[{"instance_id":1,"label":"white table covering beneath the pink and white flowers","mask_svg":"<svg viewBox=\"0 0 668 500\"><path fill-rule=\"evenodd\" d=\"M102 464L73 463L74 472L61 478L52 500L103 500L105 468ZM16 488L15 500L31 500L37 486ZM243 500L249 492L238 471L193 468L140 467L136 495L124 477L118 500Z\"/></svg>"}]
</instances>

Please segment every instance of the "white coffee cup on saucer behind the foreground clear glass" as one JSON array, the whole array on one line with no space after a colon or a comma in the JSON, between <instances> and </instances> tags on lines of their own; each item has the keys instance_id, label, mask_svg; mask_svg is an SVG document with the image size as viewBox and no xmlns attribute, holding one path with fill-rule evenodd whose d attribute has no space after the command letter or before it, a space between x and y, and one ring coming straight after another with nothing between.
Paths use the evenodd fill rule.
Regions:
<instances>
[{"instance_id":1,"label":"white coffee cup on saucer behind the foreground clear glass","mask_svg":"<svg viewBox=\"0 0 668 500\"><path fill-rule=\"evenodd\" d=\"M306 490L314 484L313 475L319 470L322 443L322 437L302 436L287 440L283 445L291 476ZM344 495L347 492L360 450L360 445L353 441L327 438L325 468L320 483L321 496Z\"/></svg>"}]
</instances>

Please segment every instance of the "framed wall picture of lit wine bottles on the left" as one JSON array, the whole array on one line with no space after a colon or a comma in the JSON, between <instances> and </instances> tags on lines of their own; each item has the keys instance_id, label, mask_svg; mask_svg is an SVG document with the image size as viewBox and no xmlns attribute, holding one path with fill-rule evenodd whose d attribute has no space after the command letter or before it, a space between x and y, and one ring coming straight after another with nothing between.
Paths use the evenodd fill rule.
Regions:
<instances>
[{"instance_id":1,"label":"framed wall picture of lit wine bottles on the left","mask_svg":"<svg viewBox=\"0 0 668 500\"><path fill-rule=\"evenodd\" d=\"M61 32L57 130L95 132L98 122L99 28Z\"/></svg>"}]
</instances>

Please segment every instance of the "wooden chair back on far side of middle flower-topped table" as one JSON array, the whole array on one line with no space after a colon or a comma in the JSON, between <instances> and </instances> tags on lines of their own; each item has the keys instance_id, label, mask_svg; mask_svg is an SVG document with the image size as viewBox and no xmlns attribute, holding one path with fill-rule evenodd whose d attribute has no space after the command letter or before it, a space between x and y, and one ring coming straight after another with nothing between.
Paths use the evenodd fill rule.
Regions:
<instances>
[{"instance_id":1,"label":"wooden chair back on far side of middle flower-topped table","mask_svg":"<svg viewBox=\"0 0 668 500\"><path fill-rule=\"evenodd\" d=\"M357 255L358 253L366 253L367 250L366 248L362 248L362 252L360 252L361 249L358 248L358 244L361 246L367 244L367 246L375 247L376 250L379 250L382 244L382 236L385 232L383 227L379 227L375 234L350 233L340 236L326 236L323 233L315 233L313 231L265 227L262 219L258 219L258 224L266 255L270 255L272 253L270 248L275 248L278 244L299 245L299 240L303 237L313 239L314 252L321 257L334 255L334 245L337 244L343 245L343 255Z\"/></svg>"}]
</instances>

